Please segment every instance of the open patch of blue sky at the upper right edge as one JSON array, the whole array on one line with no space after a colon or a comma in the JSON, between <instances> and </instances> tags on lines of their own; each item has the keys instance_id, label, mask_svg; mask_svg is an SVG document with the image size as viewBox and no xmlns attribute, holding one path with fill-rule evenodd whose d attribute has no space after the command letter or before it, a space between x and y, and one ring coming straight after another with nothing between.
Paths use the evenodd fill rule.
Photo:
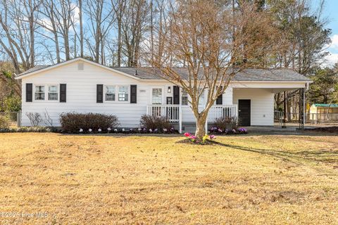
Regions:
<instances>
[{"instance_id":1,"label":"open patch of blue sky at the upper right edge","mask_svg":"<svg viewBox=\"0 0 338 225\"><path fill-rule=\"evenodd\" d=\"M320 0L312 0L313 6L318 6ZM326 57L327 65L334 65L338 62L338 0L325 0L323 17L327 18L327 28L332 30L330 46L327 46L327 51L330 55Z\"/></svg>"}]
</instances>

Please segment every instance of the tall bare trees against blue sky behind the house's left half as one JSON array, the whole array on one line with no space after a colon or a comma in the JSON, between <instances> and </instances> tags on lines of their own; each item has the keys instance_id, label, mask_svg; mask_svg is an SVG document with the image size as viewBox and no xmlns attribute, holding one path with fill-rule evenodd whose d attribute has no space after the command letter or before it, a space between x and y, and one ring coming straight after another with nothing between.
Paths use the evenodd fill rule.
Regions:
<instances>
[{"instance_id":1,"label":"tall bare trees against blue sky behind the house's left half","mask_svg":"<svg viewBox=\"0 0 338 225\"><path fill-rule=\"evenodd\" d=\"M136 66L141 63L142 42L156 41L154 27L165 23L168 4L165 0L0 0L0 54L11 60L17 73L79 56L105 65Z\"/></svg>"}]
</instances>

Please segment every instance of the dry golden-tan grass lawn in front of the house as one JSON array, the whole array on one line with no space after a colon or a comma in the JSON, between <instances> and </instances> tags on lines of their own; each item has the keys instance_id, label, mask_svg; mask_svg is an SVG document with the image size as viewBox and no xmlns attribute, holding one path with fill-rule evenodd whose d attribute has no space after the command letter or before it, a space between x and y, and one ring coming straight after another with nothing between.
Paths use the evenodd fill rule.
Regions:
<instances>
[{"instance_id":1,"label":"dry golden-tan grass lawn in front of the house","mask_svg":"<svg viewBox=\"0 0 338 225\"><path fill-rule=\"evenodd\" d=\"M0 224L338 224L338 136L182 139L0 134Z\"/></svg>"}]
</instances>

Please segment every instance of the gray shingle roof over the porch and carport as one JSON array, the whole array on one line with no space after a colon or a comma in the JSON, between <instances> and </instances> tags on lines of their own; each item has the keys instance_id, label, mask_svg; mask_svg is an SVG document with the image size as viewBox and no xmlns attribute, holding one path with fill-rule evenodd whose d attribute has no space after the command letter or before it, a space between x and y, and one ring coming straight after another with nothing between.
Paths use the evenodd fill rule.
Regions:
<instances>
[{"instance_id":1,"label":"gray shingle roof over the porch and carport","mask_svg":"<svg viewBox=\"0 0 338 225\"><path fill-rule=\"evenodd\" d=\"M141 79L162 79L161 72L154 68L113 68L128 75ZM187 68L175 68L182 77L188 77ZM156 75L157 74L157 75ZM281 81L281 82L310 82L311 79L289 69L246 69L237 72L235 81Z\"/></svg>"}]
</instances>

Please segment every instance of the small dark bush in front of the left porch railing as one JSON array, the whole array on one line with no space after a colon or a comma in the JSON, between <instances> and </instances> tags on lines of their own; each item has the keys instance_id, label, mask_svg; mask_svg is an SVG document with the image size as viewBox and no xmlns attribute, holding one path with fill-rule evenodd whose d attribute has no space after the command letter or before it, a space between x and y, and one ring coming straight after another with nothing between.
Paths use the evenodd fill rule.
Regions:
<instances>
[{"instance_id":1,"label":"small dark bush in front of the left porch railing","mask_svg":"<svg viewBox=\"0 0 338 225\"><path fill-rule=\"evenodd\" d=\"M173 127L165 117L156 117L151 115L142 115L139 122L142 130L139 131L151 131L158 133L165 133L166 131L173 131Z\"/></svg>"}]
</instances>

